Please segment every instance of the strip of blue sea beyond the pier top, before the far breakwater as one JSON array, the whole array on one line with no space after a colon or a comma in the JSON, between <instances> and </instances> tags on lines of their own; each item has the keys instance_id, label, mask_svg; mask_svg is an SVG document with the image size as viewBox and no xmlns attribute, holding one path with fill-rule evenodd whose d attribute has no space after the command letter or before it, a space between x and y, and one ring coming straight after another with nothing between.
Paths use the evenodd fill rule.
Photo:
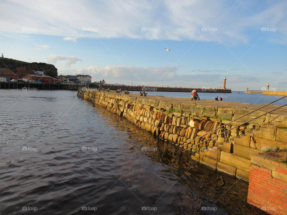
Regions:
<instances>
[{"instance_id":1,"label":"strip of blue sea beyond the pier top, before the far breakwater","mask_svg":"<svg viewBox=\"0 0 287 215\"><path fill-rule=\"evenodd\" d=\"M132 93L138 93L138 91L131 91ZM184 92L159 92L159 91L148 91L146 92L148 95L158 95L158 96L170 96L174 98L187 98L190 99L190 93ZM232 93L198 93L201 100L215 100L215 97L222 97L223 101L227 102L242 102L242 103L250 103L253 105L261 105L268 104L281 98L282 96L269 96L269 95L261 95L255 93L244 93L238 91L232 91ZM281 99L273 105L283 105L287 104L287 99Z\"/></svg>"}]
</instances>

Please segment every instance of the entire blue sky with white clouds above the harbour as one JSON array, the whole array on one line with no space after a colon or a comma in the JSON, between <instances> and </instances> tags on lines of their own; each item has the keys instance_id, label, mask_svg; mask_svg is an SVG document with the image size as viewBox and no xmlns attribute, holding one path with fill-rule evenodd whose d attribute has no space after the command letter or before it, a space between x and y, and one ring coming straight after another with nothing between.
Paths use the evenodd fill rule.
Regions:
<instances>
[{"instance_id":1,"label":"entire blue sky with white clouds above the harbour","mask_svg":"<svg viewBox=\"0 0 287 215\"><path fill-rule=\"evenodd\" d=\"M0 52L109 84L287 90L286 0L0 0ZM168 48L171 51L166 51Z\"/></svg>"}]
</instances>

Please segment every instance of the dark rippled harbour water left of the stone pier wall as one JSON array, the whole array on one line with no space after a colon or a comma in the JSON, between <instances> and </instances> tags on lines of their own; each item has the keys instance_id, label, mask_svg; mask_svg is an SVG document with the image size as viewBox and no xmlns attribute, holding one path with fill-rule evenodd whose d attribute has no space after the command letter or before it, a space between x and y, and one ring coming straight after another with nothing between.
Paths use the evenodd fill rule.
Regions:
<instances>
[{"instance_id":1,"label":"dark rippled harbour water left of the stone pier wall","mask_svg":"<svg viewBox=\"0 0 287 215\"><path fill-rule=\"evenodd\" d=\"M265 214L247 182L76 91L2 89L0 112L0 214Z\"/></svg>"}]
</instances>

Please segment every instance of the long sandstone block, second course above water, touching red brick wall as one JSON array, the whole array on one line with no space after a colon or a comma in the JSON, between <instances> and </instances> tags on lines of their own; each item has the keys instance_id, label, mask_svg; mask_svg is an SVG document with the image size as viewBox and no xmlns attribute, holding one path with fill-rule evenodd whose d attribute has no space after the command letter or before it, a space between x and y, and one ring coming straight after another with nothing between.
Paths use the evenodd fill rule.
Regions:
<instances>
[{"instance_id":1,"label":"long sandstone block, second course above water, touching red brick wall","mask_svg":"<svg viewBox=\"0 0 287 215\"><path fill-rule=\"evenodd\" d=\"M221 151L220 161L236 168L249 169L250 160L244 157L240 157L225 151Z\"/></svg>"}]
</instances>

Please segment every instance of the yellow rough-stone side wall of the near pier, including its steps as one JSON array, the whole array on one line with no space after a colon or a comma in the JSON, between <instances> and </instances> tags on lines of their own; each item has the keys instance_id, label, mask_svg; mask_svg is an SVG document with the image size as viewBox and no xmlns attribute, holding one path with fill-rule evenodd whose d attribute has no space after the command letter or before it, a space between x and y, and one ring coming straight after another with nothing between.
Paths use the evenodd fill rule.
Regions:
<instances>
[{"instance_id":1,"label":"yellow rough-stone side wall of the near pier, including its steps","mask_svg":"<svg viewBox=\"0 0 287 215\"><path fill-rule=\"evenodd\" d=\"M111 92L98 92L95 90L79 89L78 95L90 100L113 113L125 117L138 127L150 131L162 139L187 149L192 146L191 159L197 160L211 168L223 171L243 180L249 180L251 156L262 152L264 148L274 148L280 145L287 147L287 131L283 124L273 124L275 120L287 118L267 114L257 110L238 121L226 125L226 130L234 128L223 134L224 128L207 134L230 120L250 113L251 110L243 108L223 108L212 105L197 105L188 103L163 102L149 99L149 96L121 95ZM167 97L165 97L167 98ZM199 103L199 102L198 102ZM286 133L284 131L286 131ZM194 139L199 139L193 141ZM284 138L285 137L285 138ZM210 139L211 138L211 139Z\"/></svg>"}]
</instances>

